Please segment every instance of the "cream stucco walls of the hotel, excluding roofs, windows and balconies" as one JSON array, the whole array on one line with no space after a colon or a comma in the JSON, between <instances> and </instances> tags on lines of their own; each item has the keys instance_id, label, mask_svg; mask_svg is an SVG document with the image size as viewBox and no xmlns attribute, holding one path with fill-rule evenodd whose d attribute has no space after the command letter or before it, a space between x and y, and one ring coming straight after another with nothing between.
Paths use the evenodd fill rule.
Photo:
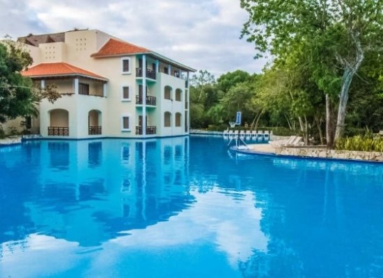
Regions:
<instances>
[{"instance_id":1,"label":"cream stucco walls of the hotel, excluding roofs, windows and balconies","mask_svg":"<svg viewBox=\"0 0 383 278\"><path fill-rule=\"evenodd\" d=\"M29 47L31 55L36 56L36 60L40 61L40 63L47 62L49 59L49 62L62 61L109 79L106 85L106 97L65 95L58 99L55 104L42 101L40 106L40 131L42 136L47 136L47 126L49 126L48 111L53 108L62 108L69 112L70 138L88 137L88 112L91 110L101 112L102 136L136 137L135 126L139 124L139 115L142 115L142 107L136 106L136 95L139 95L139 84L142 83L142 79L136 78L136 67L139 65L139 58L141 56L91 58L91 54L97 52L109 38L113 37L97 30L72 31L65 33L65 43L40 44L40 49ZM51 56L49 56L49 47ZM54 50L52 47L54 47ZM44 56L45 51L48 51L48 58ZM121 72L123 58L130 58L130 73ZM152 64L156 63L156 60L148 56L146 58L148 68L151 69ZM160 68L163 69L165 66L169 67L166 63L159 63ZM178 70L173 66L171 69L172 73L174 70ZM56 83L59 92L75 92L73 79L66 79L65 81L55 79L53 81L46 81L46 83ZM79 83L88 83L91 95L102 96L102 82L80 78ZM169 74L157 73L157 81L147 79L146 83L148 95L157 97L157 105L146 108L148 126L157 126L157 134L155 136L184 135L185 80ZM170 85L173 89L171 97L173 101L164 99L165 85ZM130 87L130 99L128 100L122 99L123 86ZM182 90L181 101L175 101L175 90L178 88ZM164 128L165 111L169 111L172 114L172 123L169 128ZM182 115L181 126L179 127L175 126L175 113L181 113ZM123 116L130 117L130 131L121 131Z\"/></svg>"}]
</instances>

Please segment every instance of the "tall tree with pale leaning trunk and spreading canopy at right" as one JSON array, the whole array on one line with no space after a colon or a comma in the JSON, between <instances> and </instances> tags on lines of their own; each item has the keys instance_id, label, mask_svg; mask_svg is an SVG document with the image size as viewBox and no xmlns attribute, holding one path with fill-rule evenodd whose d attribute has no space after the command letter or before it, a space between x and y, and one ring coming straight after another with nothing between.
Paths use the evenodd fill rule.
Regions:
<instances>
[{"instance_id":1,"label":"tall tree with pale leaning trunk and spreading canopy at right","mask_svg":"<svg viewBox=\"0 0 383 278\"><path fill-rule=\"evenodd\" d=\"M241 7L249 13L242 38L255 42L256 57L270 51L284 59L295 47L308 46L318 54L308 63L321 69L320 73L336 73L332 80L341 79L338 93L327 97L338 102L334 136L340 138L352 79L366 54L382 52L377 50L382 47L382 1L241 0ZM322 81L315 79L318 85Z\"/></svg>"}]
</instances>

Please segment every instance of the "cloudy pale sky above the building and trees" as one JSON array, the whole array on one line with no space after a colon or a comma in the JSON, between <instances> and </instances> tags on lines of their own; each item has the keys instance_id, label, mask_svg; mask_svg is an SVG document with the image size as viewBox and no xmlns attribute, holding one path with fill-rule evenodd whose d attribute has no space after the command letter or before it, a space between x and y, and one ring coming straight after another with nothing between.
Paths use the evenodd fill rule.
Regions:
<instances>
[{"instance_id":1,"label":"cloudy pale sky above the building and trees","mask_svg":"<svg viewBox=\"0 0 383 278\"><path fill-rule=\"evenodd\" d=\"M240 0L0 0L0 37L98 29L217 78L260 73Z\"/></svg>"}]
</instances>

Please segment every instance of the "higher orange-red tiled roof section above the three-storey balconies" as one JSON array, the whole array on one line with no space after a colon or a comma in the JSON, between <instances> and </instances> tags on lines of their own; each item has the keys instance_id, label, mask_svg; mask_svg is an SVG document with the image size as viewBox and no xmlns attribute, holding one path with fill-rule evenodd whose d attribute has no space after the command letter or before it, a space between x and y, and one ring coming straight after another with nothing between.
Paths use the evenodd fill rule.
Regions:
<instances>
[{"instance_id":1,"label":"higher orange-red tiled roof section above the three-storey balconies","mask_svg":"<svg viewBox=\"0 0 383 278\"><path fill-rule=\"evenodd\" d=\"M150 49L145 47L138 47L129 42L123 42L121 40L109 39L103 47L97 52L91 55L91 57L103 57L103 56L118 56L123 54L137 54L151 52Z\"/></svg>"}]
</instances>

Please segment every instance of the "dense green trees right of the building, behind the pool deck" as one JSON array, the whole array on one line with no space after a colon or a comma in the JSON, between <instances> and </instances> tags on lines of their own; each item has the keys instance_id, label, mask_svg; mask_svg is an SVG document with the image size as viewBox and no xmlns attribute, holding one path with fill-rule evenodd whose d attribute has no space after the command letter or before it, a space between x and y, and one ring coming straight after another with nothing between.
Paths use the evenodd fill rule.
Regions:
<instances>
[{"instance_id":1,"label":"dense green trees right of the building, behind the pool deck","mask_svg":"<svg viewBox=\"0 0 383 278\"><path fill-rule=\"evenodd\" d=\"M334 147L383 129L383 3L366 0L241 0L242 38L262 74L241 70L192 78L195 128L225 128L242 112L250 129L278 127ZM274 132L275 133L275 132Z\"/></svg>"}]
</instances>

